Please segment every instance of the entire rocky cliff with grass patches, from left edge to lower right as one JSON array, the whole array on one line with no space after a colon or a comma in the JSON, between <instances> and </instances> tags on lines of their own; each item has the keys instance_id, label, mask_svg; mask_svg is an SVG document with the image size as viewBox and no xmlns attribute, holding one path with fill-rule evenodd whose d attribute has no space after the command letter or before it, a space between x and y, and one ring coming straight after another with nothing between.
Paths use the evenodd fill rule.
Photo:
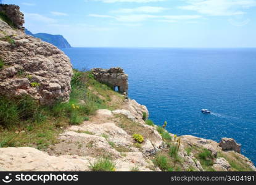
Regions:
<instances>
[{"instance_id":1,"label":"entire rocky cliff with grass patches, from left edge to lower right","mask_svg":"<svg viewBox=\"0 0 256 185\"><path fill-rule=\"evenodd\" d=\"M40 124L23 119L26 124L0 126L0 171L256 171L239 154L241 146L233 139L223 138L218 144L168 133L167 123L157 126L147 120L144 105L97 82L95 70L75 72L72 77L70 60L62 51L2 20L0 57L1 96L12 99L27 94L48 105L59 99L68 101L71 79L75 87L72 101L50 109ZM96 72L96 77L107 73L114 86L123 78L128 84L120 68ZM2 112L7 108L1 108ZM46 111L39 115L44 117ZM85 112L88 117L78 119ZM65 125L65 117L73 125Z\"/></svg>"}]
</instances>

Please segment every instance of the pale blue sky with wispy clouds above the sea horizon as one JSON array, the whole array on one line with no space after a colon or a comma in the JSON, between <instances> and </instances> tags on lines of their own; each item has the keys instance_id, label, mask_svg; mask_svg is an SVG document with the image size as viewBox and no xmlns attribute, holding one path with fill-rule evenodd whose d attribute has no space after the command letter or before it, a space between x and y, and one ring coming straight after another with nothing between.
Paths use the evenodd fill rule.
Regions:
<instances>
[{"instance_id":1,"label":"pale blue sky with wispy clouds above the sea horizon","mask_svg":"<svg viewBox=\"0 0 256 185\"><path fill-rule=\"evenodd\" d=\"M3 0L75 47L256 47L256 0Z\"/></svg>"}]
</instances>

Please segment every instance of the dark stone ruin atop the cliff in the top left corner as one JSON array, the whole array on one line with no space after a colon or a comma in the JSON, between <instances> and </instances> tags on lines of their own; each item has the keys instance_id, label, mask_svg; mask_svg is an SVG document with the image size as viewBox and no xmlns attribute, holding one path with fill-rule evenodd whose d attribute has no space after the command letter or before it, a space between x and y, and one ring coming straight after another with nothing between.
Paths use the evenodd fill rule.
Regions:
<instances>
[{"instance_id":1,"label":"dark stone ruin atop the cliff in the top left corner","mask_svg":"<svg viewBox=\"0 0 256 185\"><path fill-rule=\"evenodd\" d=\"M14 4L0 4L0 12L4 12L7 17L19 28L20 30L24 30L23 27L24 14L20 12L20 7Z\"/></svg>"}]
</instances>

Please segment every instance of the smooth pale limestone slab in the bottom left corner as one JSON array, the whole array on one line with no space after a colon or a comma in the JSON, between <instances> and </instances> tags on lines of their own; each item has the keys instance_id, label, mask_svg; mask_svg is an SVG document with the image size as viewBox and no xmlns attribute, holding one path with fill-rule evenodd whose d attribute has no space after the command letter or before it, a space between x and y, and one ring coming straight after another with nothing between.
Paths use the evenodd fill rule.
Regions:
<instances>
[{"instance_id":1,"label":"smooth pale limestone slab in the bottom left corner","mask_svg":"<svg viewBox=\"0 0 256 185\"><path fill-rule=\"evenodd\" d=\"M88 166L86 157L55 157L31 147L0 148L0 168L7 171L89 171Z\"/></svg>"}]
</instances>

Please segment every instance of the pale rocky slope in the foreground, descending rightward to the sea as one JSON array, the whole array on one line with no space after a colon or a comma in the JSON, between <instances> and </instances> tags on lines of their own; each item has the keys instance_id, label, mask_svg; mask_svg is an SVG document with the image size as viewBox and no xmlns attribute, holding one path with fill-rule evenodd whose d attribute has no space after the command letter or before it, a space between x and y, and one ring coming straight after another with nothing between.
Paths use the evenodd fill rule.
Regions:
<instances>
[{"instance_id":1,"label":"pale rocky slope in the foreground, descending rightward to the sea","mask_svg":"<svg viewBox=\"0 0 256 185\"><path fill-rule=\"evenodd\" d=\"M111 158L116 171L161 171L155 163L157 156L168 150L168 144L180 140L178 157L175 163L182 171L233 171L233 163L247 170L255 171L253 163L244 155L234 151L223 151L212 140L194 136L170 134L166 142L157 131L157 126L146 125L142 119L147 109L134 100L123 100L120 109L97 110L82 125L70 126L59 135L59 142L47 150L39 151L31 147L7 147L0 149L0 169L7 171L91 171L91 164L99 158ZM133 133L144 137L138 147ZM188 148L191 150L188 152ZM197 152L209 150L213 156L210 168L205 168ZM220 155L221 154L221 155ZM174 169L175 170L175 169Z\"/></svg>"}]
</instances>

